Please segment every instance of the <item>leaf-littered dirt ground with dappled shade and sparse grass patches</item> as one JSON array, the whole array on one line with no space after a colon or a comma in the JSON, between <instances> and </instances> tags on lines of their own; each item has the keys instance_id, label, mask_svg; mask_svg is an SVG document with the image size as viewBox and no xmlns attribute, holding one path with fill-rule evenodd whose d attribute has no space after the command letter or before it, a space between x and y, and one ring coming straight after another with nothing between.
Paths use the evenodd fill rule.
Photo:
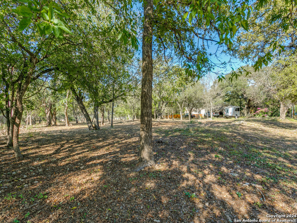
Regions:
<instances>
[{"instance_id":1,"label":"leaf-littered dirt ground with dappled shade and sparse grass patches","mask_svg":"<svg viewBox=\"0 0 297 223\"><path fill-rule=\"evenodd\" d=\"M297 122L153 121L156 166L132 172L140 122L21 129L0 145L0 222L234 222L297 214ZM290 218L292 219L292 218Z\"/></svg>"}]
</instances>

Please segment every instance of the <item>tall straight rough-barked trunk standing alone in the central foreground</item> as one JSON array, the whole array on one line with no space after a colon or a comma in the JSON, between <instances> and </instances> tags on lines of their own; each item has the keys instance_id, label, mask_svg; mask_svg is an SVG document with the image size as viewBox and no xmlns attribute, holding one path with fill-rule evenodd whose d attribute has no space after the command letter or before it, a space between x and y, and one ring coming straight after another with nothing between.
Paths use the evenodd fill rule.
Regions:
<instances>
[{"instance_id":1,"label":"tall straight rough-barked trunk standing alone in the central foreground","mask_svg":"<svg viewBox=\"0 0 297 223\"><path fill-rule=\"evenodd\" d=\"M152 145L152 81L153 81L153 0L143 2L142 83L140 102L140 157L135 171L154 166Z\"/></svg>"}]
</instances>

